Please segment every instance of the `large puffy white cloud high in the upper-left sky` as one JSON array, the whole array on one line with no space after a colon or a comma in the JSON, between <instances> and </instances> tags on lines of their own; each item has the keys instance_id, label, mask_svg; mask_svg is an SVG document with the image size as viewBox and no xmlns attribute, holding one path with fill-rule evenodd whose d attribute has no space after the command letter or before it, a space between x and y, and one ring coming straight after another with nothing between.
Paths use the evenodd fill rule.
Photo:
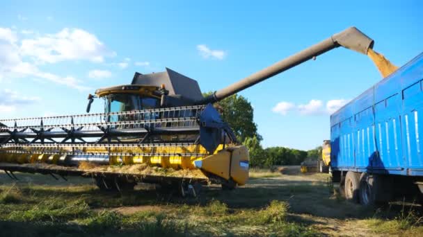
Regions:
<instances>
[{"instance_id":1,"label":"large puffy white cloud high in the upper-left sky","mask_svg":"<svg viewBox=\"0 0 423 237\"><path fill-rule=\"evenodd\" d=\"M97 37L86 30L63 28L52 35L22 40L20 52L37 62L55 63L63 60L103 62L116 54L106 49Z\"/></svg>"}]
</instances>

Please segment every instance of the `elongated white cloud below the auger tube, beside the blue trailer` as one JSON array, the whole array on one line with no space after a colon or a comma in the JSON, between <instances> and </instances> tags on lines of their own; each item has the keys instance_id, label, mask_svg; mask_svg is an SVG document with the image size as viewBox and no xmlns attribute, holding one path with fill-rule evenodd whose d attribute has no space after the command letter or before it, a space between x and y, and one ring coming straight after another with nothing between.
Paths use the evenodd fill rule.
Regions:
<instances>
[{"instance_id":1,"label":"elongated white cloud below the auger tube, beside the blue trailer","mask_svg":"<svg viewBox=\"0 0 423 237\"><path fill-rule=\"evenodd\" d=\"M288 112L296 111L301 115L330 115L336 112L340 107L348 103L349 100L338 99L338 100L328 100L326 106L324 106L324 101L322 100L310 100L306 104L295 105L294 103L281 101L272 108L272 111L276 114L281 114L283 116L287 115Z\"/></svg>"}]
</instances>

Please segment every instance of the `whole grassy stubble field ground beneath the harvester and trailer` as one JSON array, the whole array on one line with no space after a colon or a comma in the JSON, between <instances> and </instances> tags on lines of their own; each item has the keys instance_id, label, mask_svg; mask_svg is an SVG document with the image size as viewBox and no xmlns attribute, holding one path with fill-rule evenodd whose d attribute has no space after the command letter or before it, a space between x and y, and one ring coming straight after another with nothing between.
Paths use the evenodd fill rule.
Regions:
<instances>
[{"instance_id":1,"label":"whole grassy stubble field ground beneath the harvester and trailer","mask_svg":"<svg viewBox=\"0 0 423 237\"><path fill-rule=\"evenodd\" d=\"M297 171L296 171L297 170ZM281 173L282 172L282 173ZM92 179L0 173L0 226L8 236L419 236L420 207L369 209L342 200L328 175L297 167L252 170L246 186L184 199L139 185L102 192Z\"/></svg>"}]
</instances>

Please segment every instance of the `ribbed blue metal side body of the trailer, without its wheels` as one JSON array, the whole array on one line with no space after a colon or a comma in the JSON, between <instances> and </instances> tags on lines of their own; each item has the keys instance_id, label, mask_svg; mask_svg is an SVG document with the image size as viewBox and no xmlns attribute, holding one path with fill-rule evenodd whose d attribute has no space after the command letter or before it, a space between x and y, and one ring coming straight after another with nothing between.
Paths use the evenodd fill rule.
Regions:
<instances>
[{"instance_id":1,"label":"ribbed blue metal side body of the trailer, without its wheels","mask_svg":"<svg viewBox=\"0 0 423 237\"><path fill-rule=\"evenodd\" d=\"M423 53L330 116L333 170L423 176Z\"/></svg>"}]
</instances>

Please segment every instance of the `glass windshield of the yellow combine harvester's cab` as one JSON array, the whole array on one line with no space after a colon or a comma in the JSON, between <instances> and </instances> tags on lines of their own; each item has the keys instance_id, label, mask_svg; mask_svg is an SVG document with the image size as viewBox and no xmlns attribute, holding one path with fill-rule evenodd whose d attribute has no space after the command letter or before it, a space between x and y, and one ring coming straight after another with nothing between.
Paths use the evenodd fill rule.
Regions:
<instances>
[{"instance_id":1,"label":"glass windshield of the yellow combine harvester's cab","mask_svg":"<svg viewBox=\"0 0 423 237\"><path fill-rule=\"evenodd\" d=\"M110 94L104 96L104 112L125 112L131 110L154 109L160 107L157 98L140 96L137 94Z\"/></svg>"}]
</instances>

